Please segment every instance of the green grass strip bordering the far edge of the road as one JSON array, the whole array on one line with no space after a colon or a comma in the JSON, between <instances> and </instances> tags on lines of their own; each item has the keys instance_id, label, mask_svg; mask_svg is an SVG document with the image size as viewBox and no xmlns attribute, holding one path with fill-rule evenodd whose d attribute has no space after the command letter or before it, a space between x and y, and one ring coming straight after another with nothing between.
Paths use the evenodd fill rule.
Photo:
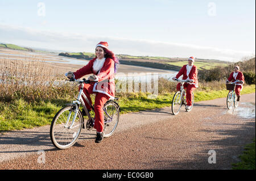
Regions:
<instances>
[{"instance_id":1,"label":"green grass strip bordering the far edge of the road","mask_svg":"<svg viewBox=\"0 0 256 181\"><path fill-rule=\"evenodd\" d=\"M242 94L255 92L255 85L245 86ZM138 112L171 105L174 92L158 95L156 99L148 98L146 93L129 93L119 96L121 113ZM223 98L228 95L227 90L195 91L195 102ZM27 103L23 99L14 100L12 103L0 102L0 131L11 131L23 128L33 128L50 124L55 113L65 103L71 100L49 100L48 102ZM224 103L225 104L225 103Z\"/></svg>"}]
</instances>

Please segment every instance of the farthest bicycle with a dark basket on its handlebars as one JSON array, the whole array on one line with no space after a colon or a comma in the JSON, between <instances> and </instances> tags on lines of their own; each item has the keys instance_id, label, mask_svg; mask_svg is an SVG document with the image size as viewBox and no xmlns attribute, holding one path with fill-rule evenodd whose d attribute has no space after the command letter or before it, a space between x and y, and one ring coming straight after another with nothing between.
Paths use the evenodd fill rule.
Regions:
<instances>
[{"instance_id":1,"label":"farthest bicycle with a dark basket on its handlebars","mask_svg":"<svg viewBox=\"0 0 256 181\"><path fill-rule=\"evenodd\" d=\"M229 94L228 96L226 96L226 106L228 107L229 110L232 109L233 104L235 108L238 106L237 95L236 92L234 92L237 82L240 81L226 83L226 90L229 90Z\"/></svg>"}]
</instances>

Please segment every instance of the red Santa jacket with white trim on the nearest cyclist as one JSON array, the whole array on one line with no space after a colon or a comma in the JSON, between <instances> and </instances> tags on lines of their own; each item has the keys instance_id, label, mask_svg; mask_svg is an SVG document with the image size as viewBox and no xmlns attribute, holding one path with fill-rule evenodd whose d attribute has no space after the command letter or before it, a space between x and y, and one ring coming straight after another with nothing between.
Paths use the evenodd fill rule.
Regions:
<instances>
[{"instance_id":1,"label":"red Santa jacket with white trim on the nearest cyclist","mask_svg":"<svg viewBox=\"0 0 256 181\"><path fill-rule=\"evenodd\" d=\"M114 60L106 58L105 62L98 72L94 72L93 63L96 58L89 61L87 65L74 72L75 78L81 78L87 74L94 74L98 77L98 82L93 83L93 91L101 92L108 95L110 98L115 96L115 81L114 81Z\"/></svg>"}]
</instances>

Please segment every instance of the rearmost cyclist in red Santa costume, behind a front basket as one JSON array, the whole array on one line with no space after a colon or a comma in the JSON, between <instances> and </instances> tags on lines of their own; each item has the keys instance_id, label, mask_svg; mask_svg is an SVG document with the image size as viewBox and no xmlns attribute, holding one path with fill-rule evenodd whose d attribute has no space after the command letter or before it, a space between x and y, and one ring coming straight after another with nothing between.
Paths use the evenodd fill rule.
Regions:
<instances>
[{"instance_id":1,"label":"rearmost cyclist in red Santa costume, behind a front basket","mask_svg":"<svg viewBox=\"0 0 256 181\"><path fill-rule=\"evenodd\" d=\"M239 66L237 65L234 66L234 71L229 75L229 78L226 81L226 83L238 81L236 83L236 89L235 89L235 92L237 95L237 101L240 101L240 97L241 97L240 91L243 89L243 83L245 83L245 77L243 77L243 73L239 70L240 70Z\"/></svg>"}]
</instances>

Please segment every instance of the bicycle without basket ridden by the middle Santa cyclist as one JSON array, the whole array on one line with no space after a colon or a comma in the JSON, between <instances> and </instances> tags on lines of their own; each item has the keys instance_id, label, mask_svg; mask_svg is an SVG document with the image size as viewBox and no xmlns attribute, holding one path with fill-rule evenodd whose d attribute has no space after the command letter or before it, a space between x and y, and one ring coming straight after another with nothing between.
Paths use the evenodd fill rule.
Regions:
<instances>
[{"instance_id":1,"label":"bicycle without basket ridden by the middle Santa cyclist","mask_svg":"<svg viewBox=\"0 0 256 181\"><path fill-rule=\"evenodd\" d=\"M175 81L180 82L181 86L180 86L180 90L177 91L174 94L174 98L172 98L172 113L174 115L177 115L180 112L180 108L185 105L185 107L187 106L187 101L186 101L186 91L184 89L184 83L185 82L189 82L188 80L180 80L180 79L176 79ZM194 93L192 92L192 105L191 108L186 109L185 110L187 112L192 110L194 104Z\"/></svg>"}]
</instances>

